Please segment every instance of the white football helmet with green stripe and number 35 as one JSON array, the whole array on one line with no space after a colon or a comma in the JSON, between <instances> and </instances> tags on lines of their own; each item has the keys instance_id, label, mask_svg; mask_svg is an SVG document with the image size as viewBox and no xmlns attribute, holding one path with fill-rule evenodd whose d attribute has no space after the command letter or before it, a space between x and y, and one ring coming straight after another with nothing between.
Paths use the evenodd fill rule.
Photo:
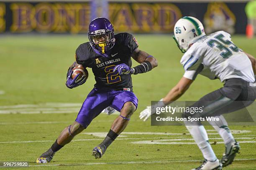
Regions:
<instances>
[{"instance_id":1,"label":"white football helmet with green stripe and number 35","mask_svg":"<svg viewBox=\"0 0 256 170\"><path fill-rule=\"evenodd\" d=\"M189 45L205 36L205 29L200 20L195 17L183 17L174 25L174 40L184 53Z\"/></svg>"}]
</instances>

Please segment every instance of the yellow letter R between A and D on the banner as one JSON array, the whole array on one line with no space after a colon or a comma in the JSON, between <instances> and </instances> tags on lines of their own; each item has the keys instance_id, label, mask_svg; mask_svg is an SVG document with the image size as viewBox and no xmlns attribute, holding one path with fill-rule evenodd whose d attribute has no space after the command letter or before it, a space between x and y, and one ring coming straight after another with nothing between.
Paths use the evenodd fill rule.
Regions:
<instances>
[{"instance_id":1,"label":"yellow letter R between A and D on the banner","mask_svg":"<svg viewBox=\"0 0 256 170\"><path fill-rule=\"evenodd\" d=\"M145 3L137 3L132 5L134 10L135 18L140 28L140 32L152 32L159 30L159 26L156 22L156 11L153 5Z\"/></svg>"}]
</instances>

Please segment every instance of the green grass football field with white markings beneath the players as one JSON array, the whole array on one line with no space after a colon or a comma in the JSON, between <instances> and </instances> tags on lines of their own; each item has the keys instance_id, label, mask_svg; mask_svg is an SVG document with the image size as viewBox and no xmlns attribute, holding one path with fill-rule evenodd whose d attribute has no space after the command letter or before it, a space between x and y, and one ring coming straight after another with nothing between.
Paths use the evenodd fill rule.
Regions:
<instances>
[{"instance_id":1,"label":"green grass football field with white markings beneath the players","mask_svg":"<svg viewBox=\"0 0 256 170\"><path fill-rule=\"evenodd\" d=\"M82 102L92 90L94 76L74 89L64 84L74 52L87 35L6 35L0 37L0 162L26 161L27 169L124 169L190 170L199 166L202 154L184 126L151 126L138 115L159 100L179 81L182 53L171 35L136 35L139 48L157 58L151 72L132 75L138 109L125 131L100 160L92 149L104 139L118 115L100 114L91 125L56 153L51 163L38 165L59 133L72 124ZM234 36L233 42L256 56L256 39ZM133 61L133 66L138 65ZM179 100L198 100L221 87L219 80L199 75ZM207 126L210 143L218 158L225 146L215 130ZM241 143L240 153L227 170L256 170L256 126L230 126ZM21 168L22 169L22 168ZM26 169L26 168L24 168Z\"/></svg>"}]
</instances>

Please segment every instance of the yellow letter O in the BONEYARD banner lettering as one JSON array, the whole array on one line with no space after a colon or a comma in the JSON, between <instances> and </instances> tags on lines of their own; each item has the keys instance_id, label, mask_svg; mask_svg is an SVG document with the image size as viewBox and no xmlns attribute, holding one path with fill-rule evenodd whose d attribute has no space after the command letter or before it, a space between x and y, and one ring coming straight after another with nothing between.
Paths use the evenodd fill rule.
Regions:
<instances>
[{"instance_id":1,"label":"yellow letter O in the BONEYARD banner lettering","mask_svg":"<svg viewBox=\"0 0 256 170\"><path fill-rule=\"evenodd\" d=\"M50 32L54 24L54 10L49 3L39 3L36 8L36 30Z\"/></svg>"}]
</instances>

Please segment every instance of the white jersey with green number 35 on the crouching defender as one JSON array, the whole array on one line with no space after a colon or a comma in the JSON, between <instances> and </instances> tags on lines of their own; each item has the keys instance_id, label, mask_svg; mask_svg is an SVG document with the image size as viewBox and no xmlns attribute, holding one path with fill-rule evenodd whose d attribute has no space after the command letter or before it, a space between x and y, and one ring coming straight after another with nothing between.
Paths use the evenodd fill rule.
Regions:
<instances>
[{"instance_id":1,"label":"white jersey with green number 35 on the crouching defender","mask_svg":"<svg viewBox=\"0 0 256 170\"><path fill-rule=\"evenodd\" d=\"M195 42L181 59L184 77L195 80L197 74L222 82L230 78L241 78L255 82L250 59L231 41L225 31L214 32Z\"/></svg>"}]
</instances>

